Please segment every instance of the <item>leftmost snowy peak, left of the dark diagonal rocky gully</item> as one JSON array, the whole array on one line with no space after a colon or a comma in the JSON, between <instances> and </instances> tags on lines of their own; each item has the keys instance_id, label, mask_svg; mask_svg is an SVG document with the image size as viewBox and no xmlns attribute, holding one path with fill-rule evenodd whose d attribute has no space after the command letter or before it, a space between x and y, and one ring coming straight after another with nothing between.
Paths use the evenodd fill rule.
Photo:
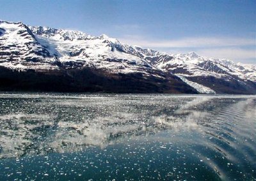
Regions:
<instances>
[{"instance_id":1,"label":"leftmost snowy peak, left of the dark diagonal rocky gully","mask_svg":"<svg viewBox=\"0 0 256 181\"><path fill-rule=\"evenodd\" d=\"M42 46L27 25L20 22L0 22L0 62L10 68L38 67L38 62L51 62L53 57ZM42 65L42 64L41 64ZM39 68L39 67L38 67ZM43 68L44 67L40 67Z\"/></svg>"}]
</instances>

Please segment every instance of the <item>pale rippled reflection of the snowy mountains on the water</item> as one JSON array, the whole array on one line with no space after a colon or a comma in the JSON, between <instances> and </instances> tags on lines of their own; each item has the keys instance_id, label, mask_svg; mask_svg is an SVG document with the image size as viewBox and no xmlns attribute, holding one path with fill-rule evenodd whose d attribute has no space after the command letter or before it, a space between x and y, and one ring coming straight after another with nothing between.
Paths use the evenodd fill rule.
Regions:
<instances>
[{"instance_id":1,"label":"pale rippled reflection of the snowy mountains on the water","mask_svg":"<svg viewBox=\"0 0 256 181\"><path fill-rule=\"evenodd\" d=\"M161 131L198 132L229 143L218 131L229 130L232 136L228 124L239 124L234 119L237 115L252 120L256 105L253 98L164 95L0 96L0 100L1 158L104 148ZM240 112L229 114L234 106L239 106Z\"/></svg>"}]
</instances>

